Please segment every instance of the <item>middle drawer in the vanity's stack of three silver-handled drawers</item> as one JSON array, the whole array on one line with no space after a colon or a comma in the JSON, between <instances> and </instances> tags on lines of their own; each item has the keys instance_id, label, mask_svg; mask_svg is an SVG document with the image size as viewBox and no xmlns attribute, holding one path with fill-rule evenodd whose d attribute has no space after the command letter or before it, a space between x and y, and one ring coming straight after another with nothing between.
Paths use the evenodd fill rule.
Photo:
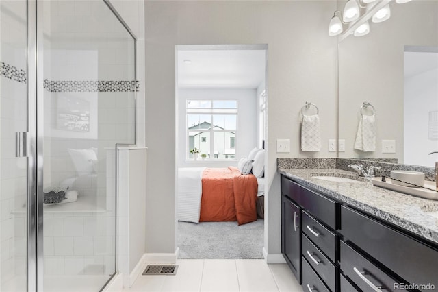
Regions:
<instances>
[{"instance_id":1,"label":"middle drawer in the vanity's stack of three silver-handled drawers","mask_svg":"<svg viewBox=\"0 0 438 292\"><path fill-rule=\"evenodd\" d=\"M302 236L302 256L307 259L331 291L336 291L335 265L305 235Z\"/></svg>"}]
</instances>

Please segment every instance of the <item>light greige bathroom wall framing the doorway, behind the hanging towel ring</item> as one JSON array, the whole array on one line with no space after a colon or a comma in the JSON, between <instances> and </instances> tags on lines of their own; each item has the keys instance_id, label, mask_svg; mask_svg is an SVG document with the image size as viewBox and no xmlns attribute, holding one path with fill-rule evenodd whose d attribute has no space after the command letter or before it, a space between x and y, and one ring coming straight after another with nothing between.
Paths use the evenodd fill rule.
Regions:
<instances>
[{"instance_id":1,"label":"light greige bathroom wall framing the doorway, behind the hanging towel ring","mask_svg":"<svg viewBox=\"0 0 438 292\"><path fill-rule=\"evenodd\" d=\"M268 44L268 141L265 247L281 253L276 158L335 157L323 147L300 151L300 108L320 108L322 145L336 136L336 49L327 25L335 1L146 1L146 234L148 252L173 253L175 242L175 45ZM159 126L157 126L159 125ZM291 152L276 154L276 138ZM163 216L166 215L166 216Z\"/></svg>"}]
</instances>

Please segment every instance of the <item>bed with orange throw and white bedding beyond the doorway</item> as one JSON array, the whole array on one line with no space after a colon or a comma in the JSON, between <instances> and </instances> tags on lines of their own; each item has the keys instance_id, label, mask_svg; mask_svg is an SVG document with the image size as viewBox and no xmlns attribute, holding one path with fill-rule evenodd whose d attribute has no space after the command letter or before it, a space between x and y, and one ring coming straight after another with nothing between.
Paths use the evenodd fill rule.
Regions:
<instances>
[{"instance_id":1,"label":"bed with orange throw and white bedding beyond the doorway","mask_svg":"<svg viewBox=\"0 0 438 292\"><path fill-rule=\"evenodd\" d=\"M178 220L237 221L239 225L256 221L257 203L263 192L263 178L241 167L179 168Z\"/></svg>"}]
</instances>

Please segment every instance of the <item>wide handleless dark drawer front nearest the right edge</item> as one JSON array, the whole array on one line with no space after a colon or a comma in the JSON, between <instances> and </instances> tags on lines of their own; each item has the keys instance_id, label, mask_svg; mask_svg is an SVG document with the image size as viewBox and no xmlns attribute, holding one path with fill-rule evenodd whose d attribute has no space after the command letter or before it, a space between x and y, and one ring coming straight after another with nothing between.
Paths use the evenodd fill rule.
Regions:
<instances>
[{"instance_id":1,"label":"wide handleless dark drawer front nearest the right edge","mask_svg":"<svg viewBox=\"0 0 438 292\"><path fill-rule=\"evenodd\" d=\"M438 287L438 250L342 206L342 234L366 253L415 284Z\"/></svg>"}]
</instances>

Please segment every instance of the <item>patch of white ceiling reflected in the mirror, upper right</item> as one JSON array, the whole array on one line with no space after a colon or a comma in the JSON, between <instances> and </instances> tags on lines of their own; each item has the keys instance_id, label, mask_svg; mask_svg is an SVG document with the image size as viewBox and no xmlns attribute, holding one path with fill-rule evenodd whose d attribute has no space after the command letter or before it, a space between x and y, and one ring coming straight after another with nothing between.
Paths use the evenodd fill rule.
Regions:
<instances>
[{"instance_id":1,"label":"patch of white ceiling reflected in the mirror, upper right","mask_svg":"<svg viewBox=\"0 0 438 292\"><path fill-rule=\"evenodd\" d=\"M404 52L404 77L438 69L438 53Z\"/></svg>"}]
</instances>

